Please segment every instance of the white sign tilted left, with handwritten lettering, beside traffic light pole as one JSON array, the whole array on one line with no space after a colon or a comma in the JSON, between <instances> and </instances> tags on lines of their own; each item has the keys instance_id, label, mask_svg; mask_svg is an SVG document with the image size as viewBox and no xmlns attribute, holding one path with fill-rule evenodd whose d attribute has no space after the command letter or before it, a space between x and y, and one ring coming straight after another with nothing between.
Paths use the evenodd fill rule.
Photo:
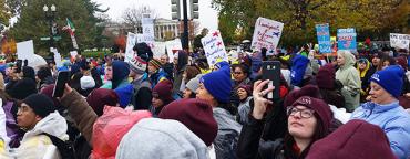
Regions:
<instances>
[{"instance_id":1,"label":"white sign tilted left, with handwritten lettering, beside traffic light pole","mask_svg":"<svg viewBox=\"0 0 410 159\"><path fill-rule=\"evenodd\" d=\"M209 32L206 36L201 39L202 45L205 50L205 56L211 66L215 65L218 60L228 62L224 42L222 41L221 32L218 30Z\"/></svg>"}]
</instances>

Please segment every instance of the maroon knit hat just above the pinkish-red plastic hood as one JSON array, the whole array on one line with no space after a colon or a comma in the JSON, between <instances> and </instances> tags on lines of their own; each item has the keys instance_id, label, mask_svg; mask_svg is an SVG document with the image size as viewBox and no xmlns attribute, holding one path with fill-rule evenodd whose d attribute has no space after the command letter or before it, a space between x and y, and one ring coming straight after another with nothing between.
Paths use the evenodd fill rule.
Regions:
<instances>
[{"instance_id":1,"label":"maroon knit hat just above the pinkish-red plastic hood","mask_svg":"<svg viewBox=\"0 0 410 159\"><path fill-rule=\"evenodd\" d=\"M96 88L86 97L86 103L89 103L98 116L101 116L105 105L115 106L120 103L120 99L112 89Z\"/></svg>"}]
</instances>

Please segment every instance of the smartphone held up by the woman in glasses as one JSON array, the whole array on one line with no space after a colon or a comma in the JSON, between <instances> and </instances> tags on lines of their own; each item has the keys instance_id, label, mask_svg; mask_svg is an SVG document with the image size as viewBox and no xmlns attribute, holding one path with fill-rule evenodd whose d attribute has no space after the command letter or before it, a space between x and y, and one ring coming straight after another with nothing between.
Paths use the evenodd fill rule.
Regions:
<instances>
[{"instance_id":1,"label":"smartphone held up by the woman in glasses","mask_svg":"<svg viewBox=\"0 0 410 159\"><path fill-rule=\"evenodd\" d=\"M268 99L279 99L280 87L280 62L279 61L264 61L262 62L262 80L269 80L268 86L275 86L275 89L267 94ZM267 86L266 86L267 88Z\"/></svg>"}]
</instances>

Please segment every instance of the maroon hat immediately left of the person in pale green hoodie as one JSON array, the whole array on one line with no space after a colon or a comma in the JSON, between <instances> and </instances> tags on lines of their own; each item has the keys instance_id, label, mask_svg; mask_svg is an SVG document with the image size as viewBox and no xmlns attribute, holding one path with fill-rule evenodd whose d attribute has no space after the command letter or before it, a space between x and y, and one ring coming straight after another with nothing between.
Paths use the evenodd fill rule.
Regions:
<instances>
[{"instance_id":1,"label":"maroon hat immediately left of the person in pale green hoodie","mask_svg":"<svg viewBox=\"0 0 410 159\"><path fill-rule=\"evenodd\" d=\"M326 64L319 68L316 75L316 82L319 88L334 89L335 88L335 68L332 64Z\"/></svg>"}]
</instances>

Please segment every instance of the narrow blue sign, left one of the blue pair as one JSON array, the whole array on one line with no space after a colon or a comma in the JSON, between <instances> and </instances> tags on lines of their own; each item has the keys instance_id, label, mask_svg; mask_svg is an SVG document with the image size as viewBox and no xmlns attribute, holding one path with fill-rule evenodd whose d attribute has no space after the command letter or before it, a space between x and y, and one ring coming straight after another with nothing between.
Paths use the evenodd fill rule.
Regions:
<instances>
[{"instance_id":1,"label":"narrow blue sign, left one of the blue pair","mask_svg":"<svg viewBox=\"0 0 410 159\"><path fill-rule=\"evenodd\" d=\"M316 24L316 32L319 43L319 53L331 53L329 24Z\"/></svg>"}]
</instances>

